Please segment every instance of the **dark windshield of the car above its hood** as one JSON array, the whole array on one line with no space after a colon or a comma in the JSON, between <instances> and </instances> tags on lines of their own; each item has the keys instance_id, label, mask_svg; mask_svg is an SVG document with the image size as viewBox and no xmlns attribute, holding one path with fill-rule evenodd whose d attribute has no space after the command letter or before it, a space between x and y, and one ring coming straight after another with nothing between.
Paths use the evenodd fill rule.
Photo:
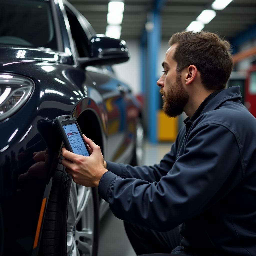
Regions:
<instances>
[{"instance_id":1,"label":"dark windshield of the car above its hood","mask_svg":"<svg viewBox=\"0 0 256 256\"><path fill-rule=\"evenodd\" d=\"M50 1L0 1L0 46L57 49Z\"/></svg>"}]
</instances>

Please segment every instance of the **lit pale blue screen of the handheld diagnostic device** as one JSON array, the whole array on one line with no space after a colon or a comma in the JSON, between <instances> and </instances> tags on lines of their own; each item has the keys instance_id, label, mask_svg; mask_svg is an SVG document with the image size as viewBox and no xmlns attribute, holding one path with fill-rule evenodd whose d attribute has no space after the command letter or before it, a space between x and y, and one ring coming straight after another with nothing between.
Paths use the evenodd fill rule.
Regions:
<instances>
[{"instance_id":1,"label":"lit pale blue screen of the handheld diagnostic device","mask_svg":"<svg viewBox=\"0 0 256 256\"><path fill-rule=\"evenodd\" d=\"M64 124L63 129L68 137L69 143L75 154L89 156L89 153L84 145L83 139L78 131L76 123Z\"/></svg>"}]
</instances>

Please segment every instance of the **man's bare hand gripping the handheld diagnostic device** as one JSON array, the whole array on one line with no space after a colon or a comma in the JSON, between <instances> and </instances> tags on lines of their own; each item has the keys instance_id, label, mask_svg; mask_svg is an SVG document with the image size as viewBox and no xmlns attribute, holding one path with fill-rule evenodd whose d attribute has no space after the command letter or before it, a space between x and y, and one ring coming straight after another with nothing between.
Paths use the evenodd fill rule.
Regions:
<instances>
[{"instance_id":1,"label":"man's bare hand gripping the handheld diagnostic device","mask_svg":"<svg viewBox=\"0 0 256 256\"><path fill-rule=\"evenodd\" d=\"M75 183L85 187L98 187L102 175L108 170L104 168L105 161L100 147L85 135L83 137L90 147L91 155L77 155L63 147L62 155L66 159L63 159L61 163L67 167L66 171L73 177Z\"/></svg>"}]
</instances>

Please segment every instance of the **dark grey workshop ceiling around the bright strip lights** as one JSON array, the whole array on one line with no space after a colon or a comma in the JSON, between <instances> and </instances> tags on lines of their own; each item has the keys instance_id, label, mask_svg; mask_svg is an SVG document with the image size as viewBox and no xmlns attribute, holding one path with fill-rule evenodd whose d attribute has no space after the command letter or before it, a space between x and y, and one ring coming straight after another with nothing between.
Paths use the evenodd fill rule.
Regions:
<instances>
[{"instance_id":1,"label":"dark grey workshop ceiling around the bright strip lights","mask_svg":"<svg viewBox=\"0 0 256 256\"><path fill-rule=\"evenodd\" d=\"M109 0L69 0L93 26L98 34L105 34ZM162 39L169 40L185 30L205 9L211 9L214 0L166 0L162 10ZM153 8L153 0L125 0L122 33L124 40L140 40L147 22L147 14ZM216 10L217 16L204 30L232 39L256 23L256 0L233 0L224 10Z\"/></svg>"}]
</instances>

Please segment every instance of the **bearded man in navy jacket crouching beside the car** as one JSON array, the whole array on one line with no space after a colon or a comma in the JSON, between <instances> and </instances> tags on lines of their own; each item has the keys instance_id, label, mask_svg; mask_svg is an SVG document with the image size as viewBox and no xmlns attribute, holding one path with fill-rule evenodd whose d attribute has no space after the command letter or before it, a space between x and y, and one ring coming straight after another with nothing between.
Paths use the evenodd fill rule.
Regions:
<instances>
[{"instance_id":1,"label":"bearded man in navy jacket crouching beside the car","mask_svg":"<svg viewBox=\"0 0 256 256\"><path fill-rule=\"evenodd\" d=\"M91 156L63 149L72 163L62 164L74 182L98 187L137 254L256 255L256 119L239 87L225 89L230 45L204 31L176 33L169 45L163 109L188 118L161 163L105 162L85 137Z\"/></svg>"}]
</instances>

